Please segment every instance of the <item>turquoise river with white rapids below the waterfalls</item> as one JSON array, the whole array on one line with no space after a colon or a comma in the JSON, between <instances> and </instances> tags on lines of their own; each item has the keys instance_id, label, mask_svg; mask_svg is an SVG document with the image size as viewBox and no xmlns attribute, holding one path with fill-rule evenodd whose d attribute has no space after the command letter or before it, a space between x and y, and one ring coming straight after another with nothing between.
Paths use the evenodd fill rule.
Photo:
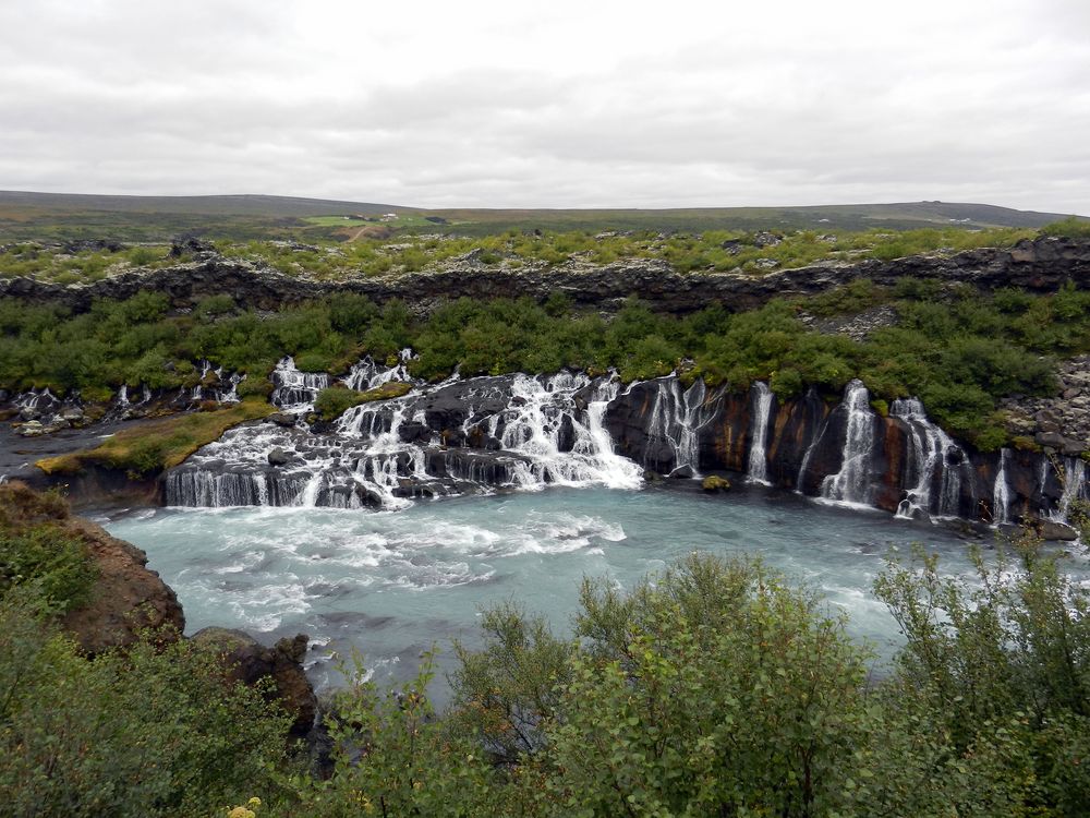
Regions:
<instances>
[{"instance_id":1,"label":"turquoise river with white rapids below the waterfalls","mask_svg":"<svg viewBox=\"0 0 1090 818\"><path fill-rule=\"evenodd\" d=\"M871 590L886 557L922 542L945 570L970 569L968 544L942 526L759 485L706 494L671 483L686 489L549 488L391 512L168 507L101 521L147 552L189 633L237 627L266 642L308 634L319 688L342 681L332 657L352 648L383 683L412 676L433 646L449 671L451 640L480 645L481 609L504 600L568 633L583 577L628 588L691 551L760 555L816 589L881 667L899 642ZM444 688L440 679L440 700Z\"/></svg>"}]
</instances>

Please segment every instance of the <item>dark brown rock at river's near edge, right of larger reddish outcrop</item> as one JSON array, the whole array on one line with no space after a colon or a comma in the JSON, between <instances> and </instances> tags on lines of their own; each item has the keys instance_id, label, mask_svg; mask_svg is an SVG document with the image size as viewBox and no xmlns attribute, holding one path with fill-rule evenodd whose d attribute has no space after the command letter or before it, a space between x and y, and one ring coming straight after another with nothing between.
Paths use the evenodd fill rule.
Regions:
<instances>
[{"instance_id":1,"label":"dark brown rock at river's near edge, right of larger reddish outcrop","mask_svg":"<svg viewBox=\"0 0 1090 818\"><path fill-rule=\"evenodd\" d=\"M293 735L303 736L314 725L318 700L303 671L307 637L299 634L266 648L242 630L208 627L192 637L196 645L215 651L229 682L253 686L270 679L270 698L278 700L292 718Z\"/></svg>"}]
</instances>

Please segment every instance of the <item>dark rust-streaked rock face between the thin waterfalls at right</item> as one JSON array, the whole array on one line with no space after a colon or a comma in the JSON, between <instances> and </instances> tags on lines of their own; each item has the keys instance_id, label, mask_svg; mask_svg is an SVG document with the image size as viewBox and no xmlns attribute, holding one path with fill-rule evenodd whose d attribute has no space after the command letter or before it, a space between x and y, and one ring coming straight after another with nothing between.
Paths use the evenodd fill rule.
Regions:
<instances>
[{"instance_id":1,"label":"dark rust-streaked rock face between the thin waterfalls at right","mask_svg":"<svg viewBox=\"0 0 1090 818\"><path fill-rule=\"evenodd\" d=\"M673 395L673 397L670 397ZM690 399L690 395L699 397ZM673 401L673 402L670 402ZM662 406L670 402L668 417ZM635 384L610 406L605 424L616 450L644 468L670 473L682 466L678 441L695 438L688 464L698 471L747 471L753 447L752 393L736 395L719 387L681 393L669 378ZM1008 452L1003 480L1005 509L995 509L1000 454L977 452L923 428L922 414L880 417L865 454L860 496L869 505L912 516L959 516L985 522L1036 520L1061 508L1065 483L1063 462L1036 452ZM827 478L845 462L849 411L844 402L811 389L803 397L780 401L773 396L765 438L765 479L775 486L809 496L822 494ZM689 423L685 434L677 428ZM673 424L673 425L671 425ZM930 438L929 435L930 434ZM922 448L921 448L922 447ZM1066 469L1071 458L1066 458ZM1081 472L1080 472L1081 473ZM1075 493L1085 488L1075 486ZM1066 488L1068 495L1071 486Z\"/></svg>"}]
</instances>

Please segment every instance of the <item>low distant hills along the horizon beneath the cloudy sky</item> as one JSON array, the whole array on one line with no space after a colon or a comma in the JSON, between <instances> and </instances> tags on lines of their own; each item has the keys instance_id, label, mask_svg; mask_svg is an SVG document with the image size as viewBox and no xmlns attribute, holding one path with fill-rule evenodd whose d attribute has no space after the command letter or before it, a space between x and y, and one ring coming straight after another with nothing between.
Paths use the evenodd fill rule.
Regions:
<instances>
[{"instance_id":1,"label":"low distant hills along the horizon beneath the cloudy sky","mask_svg":"<svg viewBox=\"0 0 1090 818\"><path fill-rule=\"evenodd\" d=\"M397 213L390 229L486 234L548 230L906 230L918 227L1037 228L1066 214L986 204L905 202L804 207L668 209L423 209L295 196L114 196L0 191L0 242L110 238L167 241L191 233L211 239L346 239L360 220ZM332 218L329 218L332 217Z\"/></svg>"}]
</instances>

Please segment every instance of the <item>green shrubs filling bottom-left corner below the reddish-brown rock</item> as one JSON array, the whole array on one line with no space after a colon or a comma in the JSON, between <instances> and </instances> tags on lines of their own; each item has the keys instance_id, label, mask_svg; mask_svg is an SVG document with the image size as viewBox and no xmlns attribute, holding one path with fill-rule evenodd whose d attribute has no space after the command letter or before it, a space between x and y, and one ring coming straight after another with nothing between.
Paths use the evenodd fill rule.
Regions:
<instances>
[{"instance_id":1,"label":"green shrubs filling bottom-left corner below the reddish-brown rock","mask_svg":"<svg viewBox=\"0 0 1090 818\"><path fill-rule=\"evenodd\" d=\"M279 795L289 720L178 641L88 661L0 600L0 792L11 816L213 815Z\"/></svg>"}]
</instances>

